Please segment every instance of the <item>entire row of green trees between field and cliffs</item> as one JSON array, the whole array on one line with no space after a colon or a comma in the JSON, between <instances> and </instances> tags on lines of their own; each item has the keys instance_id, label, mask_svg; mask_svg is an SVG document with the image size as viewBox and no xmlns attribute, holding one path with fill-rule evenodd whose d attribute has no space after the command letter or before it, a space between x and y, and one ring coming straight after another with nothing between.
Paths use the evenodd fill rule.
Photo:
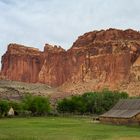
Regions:
<instances>
[{"instance_id":1,"label":"entire row of green trees between field and cliffs","mask_svg":"<svg viewBox=\"0 0 140 140\"><path fill-rule=\"evenodd\" d=\"M0 116L7 116L12 107L17 116L41 116L62 113L71 114L102 114L111 109L119 99L128 98L126 92L103 90L74 95L57 101L52 108L47 97L27 94L21 101L0 100Z\"/></svg>"}]
</instances>

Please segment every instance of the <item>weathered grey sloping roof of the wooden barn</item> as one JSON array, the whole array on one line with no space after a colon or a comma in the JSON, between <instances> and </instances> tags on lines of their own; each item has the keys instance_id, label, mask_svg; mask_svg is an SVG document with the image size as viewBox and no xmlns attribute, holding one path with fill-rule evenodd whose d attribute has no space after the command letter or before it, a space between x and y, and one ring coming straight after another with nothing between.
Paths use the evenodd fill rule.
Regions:
<instances>
[{"instance_id":1,"label":"weathered grey sloping roof of the wooden barn","mask_svg":"<svg viewBox=\"0 0 140 140\"><path fill-rule=\"evenodd\" d=\"M131 118L140 113L140 99L121 99L111 110L100 117Z\"/></svg>"}]
</instances>

